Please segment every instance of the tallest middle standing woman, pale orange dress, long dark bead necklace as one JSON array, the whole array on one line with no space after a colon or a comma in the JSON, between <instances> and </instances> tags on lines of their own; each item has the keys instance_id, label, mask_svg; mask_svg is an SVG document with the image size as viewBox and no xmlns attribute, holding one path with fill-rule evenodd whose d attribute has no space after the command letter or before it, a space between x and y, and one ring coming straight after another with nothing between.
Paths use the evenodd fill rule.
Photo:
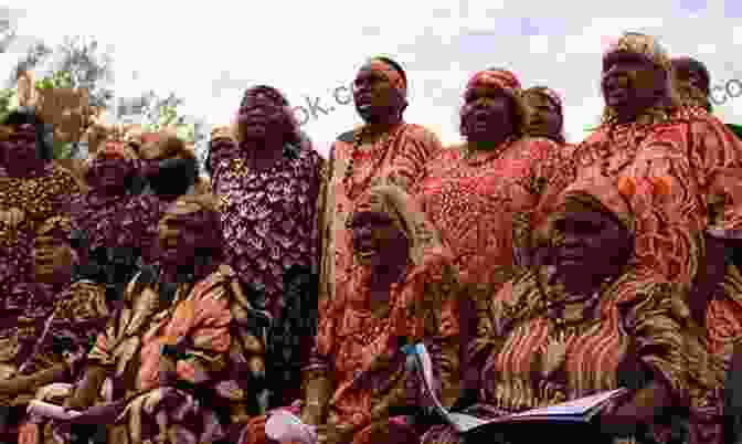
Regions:
<instances>
[{"instance_id":1,"label":"tallest middle standing woman, pale orange dress, long dark bead necklace","mask_svg":"<svg viewBox=\"0 0 742 444\"><path fill-rule=\"evenodd\" d=\"M353 83L356 110L363 125L343 133L330 147L320 193L320 305L332 299L352 273L344 225L353 202L374 180L392 178L411 191L426 162L441 150L428 129L404 121L407 77L399 63L373 57Z\"/></svg>"}]
</instances>

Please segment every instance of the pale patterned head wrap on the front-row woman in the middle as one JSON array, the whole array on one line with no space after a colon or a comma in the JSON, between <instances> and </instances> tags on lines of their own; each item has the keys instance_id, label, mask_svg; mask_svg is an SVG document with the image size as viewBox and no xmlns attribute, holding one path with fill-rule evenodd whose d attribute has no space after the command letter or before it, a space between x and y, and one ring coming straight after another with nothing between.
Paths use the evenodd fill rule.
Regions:
<instances>
[{"instance_id":1,"label":"pale patterned head wrap on the front-row woman in the middle","mask_svg":"<svg viewBox=\"0 0 742 444\"><path fill-rule=\"evenodd\" d=\"M425 221L425 216L418 211L410 195L401 188L379 183L371 187L357 201L350 218L359 212L379 211L388 214L392 223L410 241L410 258L414 265L421 265L425 251L439 247L441 240L434 230Z\"/></svg>"}]
</instances>

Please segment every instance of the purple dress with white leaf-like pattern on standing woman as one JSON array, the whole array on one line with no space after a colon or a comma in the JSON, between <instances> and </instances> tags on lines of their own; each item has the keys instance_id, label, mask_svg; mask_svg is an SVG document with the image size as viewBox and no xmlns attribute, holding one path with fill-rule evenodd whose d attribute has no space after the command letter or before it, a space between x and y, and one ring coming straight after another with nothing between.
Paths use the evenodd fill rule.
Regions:
<instances>
[{"instance_id":1,"label":"purple dress with white leaf-like pattern on standing woman","mask_svg":"<svg viewBox=\"0 0 742 444\"><path fill-rule=\"evenodd\" d=\"M276 318L284 273L293 265L317 266L320 160L301 149L265 171L250 171L244 159L222 160L214 171L227 263L245 285L265 287L266 308Z\"/></svg>"}]
</instances>

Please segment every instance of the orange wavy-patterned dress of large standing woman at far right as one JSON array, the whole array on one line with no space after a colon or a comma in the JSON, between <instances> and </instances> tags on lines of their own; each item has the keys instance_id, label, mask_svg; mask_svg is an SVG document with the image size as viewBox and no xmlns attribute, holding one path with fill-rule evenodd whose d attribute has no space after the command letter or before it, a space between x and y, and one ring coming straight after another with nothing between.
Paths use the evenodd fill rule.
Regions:
<instances>
[{"instance_id":1,"label":"orange wavy-patterned dress of large standing woman at far right","mask_svg":"<svg viewBox=\"0 0 742 444\"><path fill-rule=\"evenodd\" d=\"M702 254L711 193L723 188L714 186L714 178L740 166L742 144L707 114L679 109L651 124L605 125L575 149L548 188L538 214L545 218L553 197L575 180L603 175L616 186L628 180L639 263L690 285ZM739 229L741 210L734 194L728 194L719 222L727 233Z\"/></svg>"}]
</instances>

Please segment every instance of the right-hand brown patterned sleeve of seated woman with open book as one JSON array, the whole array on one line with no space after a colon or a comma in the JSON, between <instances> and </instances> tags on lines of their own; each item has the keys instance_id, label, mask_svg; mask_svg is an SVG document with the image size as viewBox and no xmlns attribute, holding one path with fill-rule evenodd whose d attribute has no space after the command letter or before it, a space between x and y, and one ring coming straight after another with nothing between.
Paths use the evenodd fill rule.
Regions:
<instances>
[{"instance_id":1,"label":"right-hand brown patterned sleeve of seated woman with open book","mask_svg":"<svg viewBox=\"0 0 742 444\"><path fill-rule=\"evenodd\" d=\"M667 383L678 405L688 405L689 369L706 359L702 349L693 347L690 310L681 292L675 284L650 283L621 299L617 308L639 361L655 380Z\"/></svg>"}]
</instances>

